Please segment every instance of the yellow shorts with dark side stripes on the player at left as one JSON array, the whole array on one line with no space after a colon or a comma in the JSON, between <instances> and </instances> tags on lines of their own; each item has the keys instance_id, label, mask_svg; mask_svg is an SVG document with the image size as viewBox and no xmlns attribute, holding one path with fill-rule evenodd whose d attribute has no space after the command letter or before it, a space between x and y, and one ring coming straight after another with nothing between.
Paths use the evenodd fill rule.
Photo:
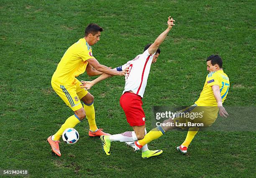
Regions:
<instances>
[{"instance_id":1,"label":"yellow shorts with dark side stripes on the player at left","mask_svg":"<svg viewBox=\"0 0 256 178\"><path fill-rule=\"evenodd\" d=\"M74 85L62 85L59 82L51 81L54 91L73 111L83 107L80 99L88 93L87 90L80 88L80 84L81 82L78 79L75 79Z\"/></svg>"}]
</instances>

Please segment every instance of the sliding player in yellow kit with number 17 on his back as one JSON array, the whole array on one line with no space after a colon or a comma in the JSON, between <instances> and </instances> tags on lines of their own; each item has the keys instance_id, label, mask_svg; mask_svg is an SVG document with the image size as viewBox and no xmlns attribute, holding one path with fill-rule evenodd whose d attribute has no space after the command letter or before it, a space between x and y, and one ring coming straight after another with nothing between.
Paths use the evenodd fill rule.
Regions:
<instances>
[{"instance_id":1,"label":"sliding player in yellow kit with number 17 on his back","mask_svg":"<svg viewBox=\"0 0 256 178\"><path fill-rule=\"evenodd\" d=\"M211 55L207 58L207 71L209 71L209 74L206 76L205 85L199 99L195 102L195 104L187 107L186 109L182 109L177 115L175 115L175 117L164 120L162 126L154 128L148 132L148 134L146 134L142 140L135 142L135 145L138 148L141 148L148 142L161 137L168 130L172 130L175 127L184 129L187 128L183 127L184 123L187 124L188 122L197 122L193 121L193 118L182 117L182 114L184 115L187 113L190 114L192 112L198 113L199 111L203 111L204 114L202 114L202 119L199 119L198 122L204 123L205 127L210 126L213 122L215 122L218 112L222 117L228 116L228 113L222 104L227 97L230 84L227 74L225 74L222 69L222 59L220 56ZM185 141L182 143L182 145L177 147L177 150L182 154L187 154L187 147L197 134L198 130L199 127L189 127Z\"/></svg>"}]
</instances>

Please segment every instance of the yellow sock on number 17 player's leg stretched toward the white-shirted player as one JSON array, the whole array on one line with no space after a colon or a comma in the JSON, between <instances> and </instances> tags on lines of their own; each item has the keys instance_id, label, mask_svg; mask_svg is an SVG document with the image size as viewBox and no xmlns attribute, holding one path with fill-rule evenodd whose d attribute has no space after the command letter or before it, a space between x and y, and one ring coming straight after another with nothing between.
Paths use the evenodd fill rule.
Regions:
<instances>
[{"instance_id":1,"label":"yellow sock on number 17 player's leg stretched toward the white-shirted player","mask_svg":"<svg viewBox=\"0 0 256 178\"><path fill-rule=\"evenodd\" d=\"M142 140L138 140L140 145L146 145L147 143L151 142L152 140L156 140L157 138L161 137L165 133L164 129L160 126L150 130Z\"/></svg>"}]
</instances>

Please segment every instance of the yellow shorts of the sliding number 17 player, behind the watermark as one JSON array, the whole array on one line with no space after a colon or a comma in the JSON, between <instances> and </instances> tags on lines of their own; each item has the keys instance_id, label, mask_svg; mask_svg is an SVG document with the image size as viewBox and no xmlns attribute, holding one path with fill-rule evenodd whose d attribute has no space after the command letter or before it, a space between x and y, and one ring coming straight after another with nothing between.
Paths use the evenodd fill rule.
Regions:
<instances>
[{"instance_id":1,"label":"yellow shorts of the sliding number 17 player, behind the watermark","mask_svg":"<svg viewBox=\"0 0 256 178\"><path fill-rule=\"evenodd\" d=\"M185 129L188 127L210 127L218 116L218 107L203 107L194 104L177 112L174 117L175 126Z\"/></svg>"}]
</instances>

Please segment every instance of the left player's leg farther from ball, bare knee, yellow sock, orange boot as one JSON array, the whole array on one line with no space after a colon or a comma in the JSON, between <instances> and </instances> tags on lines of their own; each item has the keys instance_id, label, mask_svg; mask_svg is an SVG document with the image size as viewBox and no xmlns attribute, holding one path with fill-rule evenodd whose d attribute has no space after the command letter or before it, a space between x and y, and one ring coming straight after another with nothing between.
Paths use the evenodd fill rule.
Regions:
<instances>
[{"instance_id":1,"label":"left player's leg farther from ball, bare knee, yellow sock, orange boot","mask_svg":"<svg viewBox=\"0 0 256 178\"><path fill-rule=\"evenodd\" d=\"M95 110L93 106L94 97L89 92L81 99L84 102L84 111L86 112L86 118L90 125L89 136L95 137L100 135L110 135L103 132L103 129L98 129L95 122Z\"/></svg>"}]
</instances>

